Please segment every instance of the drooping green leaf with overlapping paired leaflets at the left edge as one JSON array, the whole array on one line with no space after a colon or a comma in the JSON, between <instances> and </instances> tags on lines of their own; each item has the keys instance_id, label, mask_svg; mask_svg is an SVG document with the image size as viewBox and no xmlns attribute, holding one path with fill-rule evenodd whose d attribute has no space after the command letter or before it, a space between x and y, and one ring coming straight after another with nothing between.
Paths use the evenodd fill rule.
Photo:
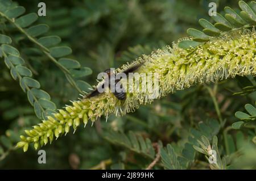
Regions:
<instances>
[{"instance_id":1,"label":"drooping green leaf with overlapping paired leaflets at the left edge","mask_svg":"<svg viewBox=\"0 0 256 181\"><path fill-rule=\"evenodd\" d=\"M55 103L51 102L51 96L46 91L40 89L40 83L32 77L32 71L24 66L24 60L20 57L19 51L11 45L9 36L0 35L2 37L1 50L2 57L5 60L7 68L13 79L19 80L19 85L24 92L27 93L27 99L34 107L35 114L39 119L46 119L47 116L55 112Z\"/></svg>"}]
</instances>

